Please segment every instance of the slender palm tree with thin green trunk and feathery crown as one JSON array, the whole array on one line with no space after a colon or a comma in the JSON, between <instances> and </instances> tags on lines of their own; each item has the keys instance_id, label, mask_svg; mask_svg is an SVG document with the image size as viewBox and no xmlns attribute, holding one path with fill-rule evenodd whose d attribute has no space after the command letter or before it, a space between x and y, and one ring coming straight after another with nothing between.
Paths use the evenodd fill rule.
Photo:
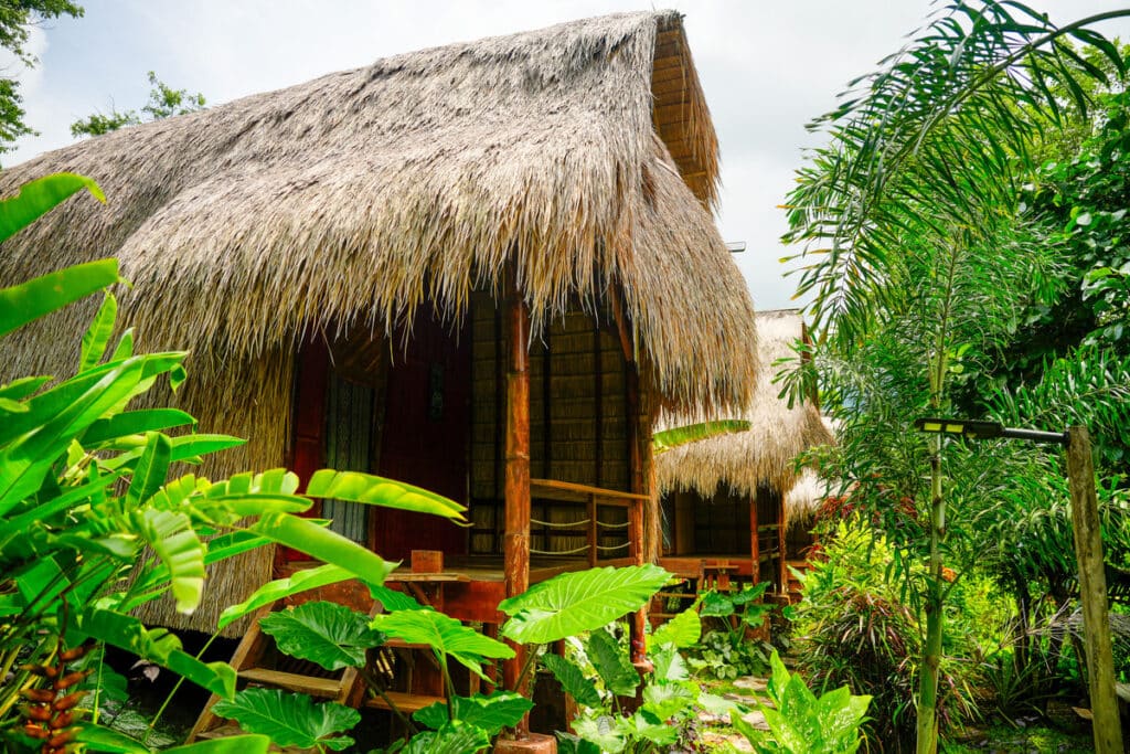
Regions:
<instances>
[{"instance_id":1,"label":"slender palm tree with thin green trunk and feathery crown","mask_svg":"<svg viewBox=\"0 0 1130 754\"><path fill-rule=\"evenodd\" d=\"M1130 10L1057 27L1015 2L951 2L814 123L832 142L799 172L786 240L806 244L794 258L805 265L798 295L812 296L818 343L850 359L889 327L892 313L916 310L903 322L912 327L905 340L924 345L923 408L948 408L964 345L955 324L980 323L971 329L989 343L1015 328L1015 288L1000 283L1032 269L1032 233L1020 222L1018 197L1033 174L1038 136L1062 121L1064 107L1087 111L1080 81L1105 78L1070 40L1094 46L1122 73L1118 49L1092 25L1125 15ZM1041 293L1038 286L1028 292ZM913 417L899 418L905 426ZM935 752L938 742L947 515L941 443L938 436L930 448L929 489L911 496L930 501L920 752Z\"/></svg>"}]
</instances>

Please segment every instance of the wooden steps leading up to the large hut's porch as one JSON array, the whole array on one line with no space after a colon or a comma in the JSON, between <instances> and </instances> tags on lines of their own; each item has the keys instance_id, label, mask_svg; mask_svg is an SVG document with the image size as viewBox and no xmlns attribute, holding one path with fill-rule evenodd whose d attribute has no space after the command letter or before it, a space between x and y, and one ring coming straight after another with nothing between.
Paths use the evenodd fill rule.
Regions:
<instances>
[{"instance_id":1,"label":"wooden steps leading up to the large hut's porch","mask_svg":"<svg viewBox=\"0 0 1130 754\"><path fill-rule=\"evenodd\" d=\"M364 707L392 710L394 705L397 710L409 716L435 702L446 701L444 696L435 693L442 692L442 685L435 684L435 676L438 676L437 668L434 669L435 673L419 674L424 677L418 678L417 683L414 683L417 674L409 673L409 691L384 691L383 694L366 695L367 684L357 668L347 667L332 674L312 662L294 660L294 658L279 655L273 648L273 639L260 630L259 621L281 606L281 603L277 603L260 610L232 656L231 665L238 674L240 688L246 686L281 688L308 694L314 699L334 701L355 709ZM379 610L380 606L374 606L371 615L375 615ZM415 656L420 656L423 655L420 650L426 649L423 644L407 644L398 640L390 639L385 642L379 651L383 653L384 670L389 674L390 681L393 673L391 662L395 659L391 658L390 652L395 652L401 657L414 652ZM427 653L427 657L431 658L431 652ZM433 668L428 668L428 670L433 670ZM219 699L216 694L209 697L189 734L188 743L243 733L234 721L224 720L212 712L212 707Z\"/></svg>"}]
</instances>

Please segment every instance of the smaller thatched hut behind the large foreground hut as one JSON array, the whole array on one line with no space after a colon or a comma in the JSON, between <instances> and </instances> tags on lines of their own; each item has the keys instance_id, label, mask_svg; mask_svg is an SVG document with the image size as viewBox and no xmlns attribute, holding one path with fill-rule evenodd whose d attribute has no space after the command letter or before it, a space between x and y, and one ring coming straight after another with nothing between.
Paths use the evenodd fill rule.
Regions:
<instances>
[{"instance_id":1,"label":"smaller thatched hut behind the large foreground hut","mask_svg":"<svg viewBox=\"0 0 1130 754\"><path fill-rule=\"evenodd\" d=\"M664 557L660 562L688 578L725 583L739 578L771 580L788 591L786 563L797 558L806 532L791 527L806 518L819 479L798 469L801 452L833 442L816 401L789 407L773 382L781 365L796 357L792 344L807 339L797 310L757 313L760 374L744 410L712 418L742 418L744 432L688 443L657 457L663 495ZM701 416L701 415L699 415ZM666 426L695 421L695 415L666 413ZM699 419L701 421L701 419Z\"/></svg>"}]
</instances>

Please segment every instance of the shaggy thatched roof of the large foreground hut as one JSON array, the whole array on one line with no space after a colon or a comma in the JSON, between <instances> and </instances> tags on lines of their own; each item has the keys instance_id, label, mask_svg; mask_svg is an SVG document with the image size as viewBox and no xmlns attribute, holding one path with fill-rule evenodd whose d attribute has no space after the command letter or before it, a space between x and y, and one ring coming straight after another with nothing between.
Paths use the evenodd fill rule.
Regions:
<instances>
[{"instance_id":1,"label":"shaggy thatched roof of the large foreground hut","mask_svg":"<svg viewBox=\"0 0 1130 754\"><path fill-rule=\"evenodd\" d=\"M115 255L146 348L219 372L329 323L461 317L513 263L534 336L609 286L669 402L740 405L753 307L707 207L718 141L676 12L607 16L380 60L132 127L0 174L69 200L6 244L0 279ZM24 336L7 369L52 369ZM54 339L52 338L52 341ZM42 341L40 341L42 343Z\"/></svg>"}]
</instances>

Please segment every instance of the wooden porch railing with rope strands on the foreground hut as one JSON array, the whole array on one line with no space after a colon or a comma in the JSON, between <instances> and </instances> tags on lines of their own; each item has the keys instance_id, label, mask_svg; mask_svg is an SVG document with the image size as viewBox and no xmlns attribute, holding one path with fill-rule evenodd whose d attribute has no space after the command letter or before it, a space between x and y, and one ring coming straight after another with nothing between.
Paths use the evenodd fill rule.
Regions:
<instances>
[{"instance_id":1,"label":"wooden porch railing with rope strands on the foreground hut","mask_svg":"<svg viewBox=\"0 0 1130 754\"><path fill-rule=\"evenodd\" d=\"M600 546L600 534L602 529L616 528L620 525L606 523L600 520L600 508L621 508L627 510L627 556L633 563L643 563L643 504L647 500L646 495L637 495L631 492L619 492L618 489L605 489L602 487L591 487L589 485L575 484L572 482L558 482L557 479L530 479L530 497L539 500L556 500L567 503L583 503L585 505L585 518L580 521L548 522L539 521L542 526L558 529L575 529L580 532L583 527L585 545L579 548L589 557L589 565L597 565L601 558L603 549ZM617 546L617 548L623 547ZM559 554L559 553L539 553Z\"/></svg>"}]
</instances>

